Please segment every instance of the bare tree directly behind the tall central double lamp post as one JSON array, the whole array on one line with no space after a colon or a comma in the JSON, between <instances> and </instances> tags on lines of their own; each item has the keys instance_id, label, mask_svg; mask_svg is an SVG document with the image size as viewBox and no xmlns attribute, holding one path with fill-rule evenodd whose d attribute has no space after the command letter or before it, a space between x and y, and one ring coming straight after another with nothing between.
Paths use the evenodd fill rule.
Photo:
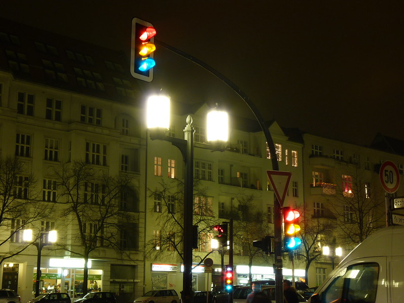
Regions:
<instances>
[{"instance_id":1,"label":"bare tree directly behind the tall central double lamp post","mask_svg":"<svg viewBox=\"0 0 404 303\"><path fill-rule=\"evenodd\" d=\"M157 216L159 234L146 242L146 256L156 259L160 256L175 256L183 261L184 236L184 183L179 179L161 180L159 186L148 189L149 197L153 197L155 205L149 211ZM198 227L198 249L205 251L210 245L210 231L217 224L210 204L207 189L201 187L198 180L193 184L193 225ZM194 254L193 258L200 264L210 254ZM172 257L170 257L172 258Z\"/></svg>"}]
</instances>

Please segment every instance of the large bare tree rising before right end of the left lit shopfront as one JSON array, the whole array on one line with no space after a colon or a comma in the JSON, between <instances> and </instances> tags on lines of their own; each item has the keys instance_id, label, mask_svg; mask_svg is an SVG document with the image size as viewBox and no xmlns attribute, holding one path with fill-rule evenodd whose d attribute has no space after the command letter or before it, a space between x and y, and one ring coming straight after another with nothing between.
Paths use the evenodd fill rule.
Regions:
<instances>
[{"instance_id":1,"label":"large bare tree rising before right end of the left lit shopfront","mask_svg":"<svg viewBox=\"0 0 404 303\"><path fill-rule=\"evenodd\" d=\"M130 188L131 179L126 174L108 176L102 169L83 162L63 164L56 172L60 198L66 208L62 212L65 220L77 228L71 243L63 249L84 259L83 293L87 293L88 259L96 248L120 245L120 230L125 216L121 210L121 194Z\"/></svg>"}]
</instances>

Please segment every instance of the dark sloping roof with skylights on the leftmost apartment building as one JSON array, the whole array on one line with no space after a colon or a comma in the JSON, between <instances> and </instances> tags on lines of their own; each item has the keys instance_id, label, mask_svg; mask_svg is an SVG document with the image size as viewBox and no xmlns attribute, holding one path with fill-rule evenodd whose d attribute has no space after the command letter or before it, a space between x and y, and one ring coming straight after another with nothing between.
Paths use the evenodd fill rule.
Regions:
<instances>
[{"instance_id":1,"label":"dark sloping roof with skylights on the leftmost apartment building","mask_svg":"<svg viewBox=\"0 0 404 303\"><path fill-rule=\"evenodd\" d=\"M138 99L123 51L0 18L0 69L17 79L118 102Z\"/></svg>"}]
</instances>

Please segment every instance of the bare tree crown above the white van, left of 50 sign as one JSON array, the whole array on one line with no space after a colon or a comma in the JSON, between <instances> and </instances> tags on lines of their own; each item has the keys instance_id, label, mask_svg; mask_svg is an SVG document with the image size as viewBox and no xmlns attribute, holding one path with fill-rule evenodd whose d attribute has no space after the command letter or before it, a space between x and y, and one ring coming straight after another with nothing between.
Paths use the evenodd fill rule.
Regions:
<instances>
[{"instance_id":1,"label":"bare tree crown above the white van, left of 50 sign","mask_svg":"<svg viewBox=\"0 0 404 303\"><path fill-rule=\"evenodd\" d=\"M376 174L361 170L359 165L349 168L341 176L338 183L342 186L337 186L335 199L330 202L339 238L346 244L357 245L385 225L385 201L381 188L376 186Z\"/></svg>"}]
</instances>

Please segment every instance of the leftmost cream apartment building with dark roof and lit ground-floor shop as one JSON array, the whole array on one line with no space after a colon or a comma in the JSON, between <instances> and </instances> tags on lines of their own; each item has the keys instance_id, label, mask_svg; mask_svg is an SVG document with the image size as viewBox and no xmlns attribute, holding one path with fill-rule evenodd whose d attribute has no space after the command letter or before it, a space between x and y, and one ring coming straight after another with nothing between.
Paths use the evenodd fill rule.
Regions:
<instances>
[{"instance_id":1,"label":"leftmost cream apartment building with dark roof and lit ground-floor shop","mask_svg":"<svg viewBox=\"0 0 404 303\"><path fill-rule=\"evenodd\" d=\"M21 182L13 183L18 195L10 196L16 201L31 198L31 206L48 212L29 223L22 215L12 217L12 210L3 213L12 219L3 219L1 225L0 254L7 257L1 267L2 287L16 289L22 301L31 299L40 255L40 291L80 296L84 246L77 235L82 232L88 239L97 237L89 248L87 287L131 300L143 292L145 139L135 104L138 88L127 60L120 52L7 20L1 23L0 155L2 161L15 158L23 165L21 176L16 176ZM78 190L78 200L88 204L83 210L89 212L83 215L89 221L81 223L82 229L68 212L66 192L57 186L58 174L74 163L85 165L93 177ZM28 190L30 175L37 182ZM106 184L95 181L99 176L130 179L127 189L110 199L124 222L97 214L107 213L103 204L111 193ZM91 211L94 218L109 222L91 221ZM109 229L104 230L107 225L119 226L115 248L107 245L107 237L112 238ZM22 234L28 228L35 235L56 230L57 242L46 243L44 236L26 243ZM42 240L47 245L40 245ZM21 247L26 249L11 254Z\"/></svg>"}]
</instances>

